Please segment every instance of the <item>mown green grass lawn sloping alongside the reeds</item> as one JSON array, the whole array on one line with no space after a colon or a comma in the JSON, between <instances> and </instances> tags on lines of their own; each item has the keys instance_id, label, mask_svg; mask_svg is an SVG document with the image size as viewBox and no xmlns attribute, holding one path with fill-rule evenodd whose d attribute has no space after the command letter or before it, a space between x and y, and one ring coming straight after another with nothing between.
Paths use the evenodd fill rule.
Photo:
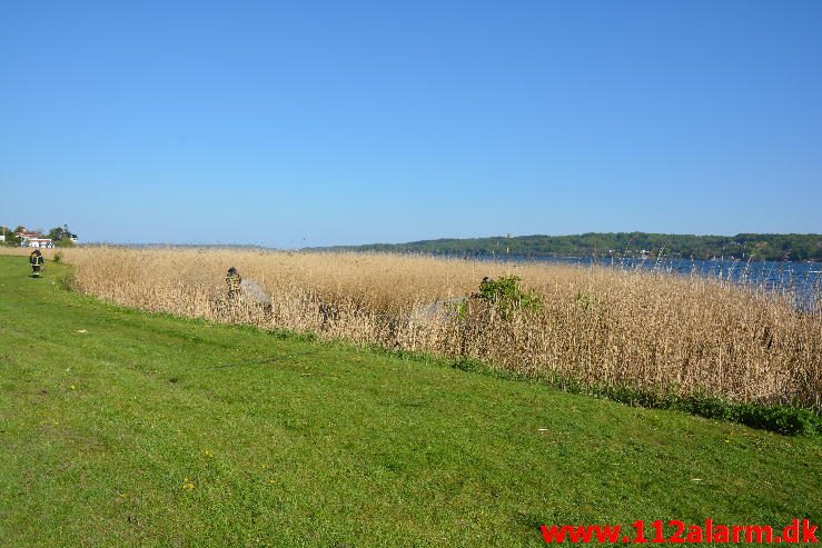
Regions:
<instances>
[{"instance_id":1,"label":"mown green grass lawn sloping alongside the reeds","mask_svg":"<svg viewBox=\"0 0 822 548\"><path fill-rule=\"evenodd\" d=\"M0 546L539 546L822 521L822 440L122 310L0 257Z\"/></svg>"}]
</instances>

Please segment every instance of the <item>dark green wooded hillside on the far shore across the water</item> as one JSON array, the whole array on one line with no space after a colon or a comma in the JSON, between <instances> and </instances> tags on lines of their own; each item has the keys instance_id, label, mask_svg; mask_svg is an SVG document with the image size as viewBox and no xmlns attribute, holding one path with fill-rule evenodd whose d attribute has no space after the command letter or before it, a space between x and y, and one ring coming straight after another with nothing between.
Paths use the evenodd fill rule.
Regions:
<instances>
[{"instance_id":1,"label":"dark green wooded hillside on the far shore across the water","mask_svg":"<svg viewBox=\"0 0 822 548\"><path fill-rule=\"evenodd\" d=\"M822 235L740 233L736 236L587 232L570 236L442 238L407 243L334 246L325 250L392 251L456 256L641 257L684 259L822 261Z\"/></svg>"}]
</instances>

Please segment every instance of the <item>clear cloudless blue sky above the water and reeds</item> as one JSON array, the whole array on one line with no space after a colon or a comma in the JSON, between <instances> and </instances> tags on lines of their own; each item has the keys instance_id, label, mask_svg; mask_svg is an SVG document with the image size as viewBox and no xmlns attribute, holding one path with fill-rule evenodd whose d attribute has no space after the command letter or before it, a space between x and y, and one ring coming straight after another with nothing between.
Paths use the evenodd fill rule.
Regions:
<instances>
[{"instance_id":1,"label":"clear cloudless blue sky above the water and reeds","mask_svg":"<svg viewBox=\"0 0 822 548\"><path fill-rule=\"evenodd\" d=\"M0 223L65 222L822 232L822 1L4 0Z\"/></svg>"}]
</instances>

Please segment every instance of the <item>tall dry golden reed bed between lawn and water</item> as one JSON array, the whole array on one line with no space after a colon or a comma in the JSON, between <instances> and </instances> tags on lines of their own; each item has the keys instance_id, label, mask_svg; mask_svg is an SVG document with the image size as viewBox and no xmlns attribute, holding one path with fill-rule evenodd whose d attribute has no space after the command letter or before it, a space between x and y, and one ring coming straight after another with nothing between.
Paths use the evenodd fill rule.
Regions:
<instances>
[{"instance_id":1,"label":"tall dry golden reed bed between lawn and water","mask_svg":"<svg viewBox=\"0 0 822 548\"><path fill-rule=\"evenodd\" d=\"M78 291L126 307L478 359L533 377L822 409L822 313L700 277L382 253L77 248ZM226 299L236 267L270 297ZM484 276L541 296L502 318L453 303ZM474 309L476 307L469 307Z\"/></svg>"}]
</instances>

